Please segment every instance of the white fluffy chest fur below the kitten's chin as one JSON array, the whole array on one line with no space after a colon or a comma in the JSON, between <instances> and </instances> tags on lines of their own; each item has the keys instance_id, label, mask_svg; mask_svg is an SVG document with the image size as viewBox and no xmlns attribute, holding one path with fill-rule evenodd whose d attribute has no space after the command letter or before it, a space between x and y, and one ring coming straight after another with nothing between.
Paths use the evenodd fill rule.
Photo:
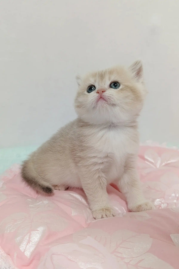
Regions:
<instances>
[{"instance_id":1,"label":"white fluffy chest fur below the kitten's chin","mask_svg":"<svg viewBox=\"0 0 179 269\"><path fill-rule=\"evenodd\" d=\"M107 165L108 169L105 169L105 173L107 173L107 181L110 183L122 175L126 156L137 152L138 133L136 129L128 127L97 129L89 134L88 144L92 148L90 157L96 156L93 158L95 163L106 163L107 165L106 157L109 156L110 165Z\"/></svg>"}]
</instances>

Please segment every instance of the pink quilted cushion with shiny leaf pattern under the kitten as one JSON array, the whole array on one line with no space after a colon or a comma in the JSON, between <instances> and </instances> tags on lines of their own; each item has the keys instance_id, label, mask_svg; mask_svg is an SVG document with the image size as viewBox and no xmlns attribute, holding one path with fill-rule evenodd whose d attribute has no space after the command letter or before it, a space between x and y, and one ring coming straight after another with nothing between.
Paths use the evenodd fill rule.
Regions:
<instances>
[{"instance_id":1,"label":"pink quilted cushion with shiny leaf pattern under the kitten","mask_svg":"<svg viewBox=\"0 0 179 269\"><path fill-rule=\"evenodd\" d=\"M14 165L0 180L3 262L19 269L179 268L179 151L141 146L138 171L155 210L128 212L113 184L118 216L95 221L82 190L37 195Z\"/></svg>"}]
</instances>

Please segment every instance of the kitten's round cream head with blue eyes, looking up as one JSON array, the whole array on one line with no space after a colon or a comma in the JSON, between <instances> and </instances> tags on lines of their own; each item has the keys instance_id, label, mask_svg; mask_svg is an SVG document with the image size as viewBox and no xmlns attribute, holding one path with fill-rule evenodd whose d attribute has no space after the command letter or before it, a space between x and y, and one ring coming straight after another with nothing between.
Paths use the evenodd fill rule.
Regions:
<instances>
[{"instance_id":1,"label":"kitten's round cream head with blue eyes, looking up","mask_svg":"<svg viewBox=\"0 0 179 269\"><path fill-rule=\"evenodd\" d=\"M127 123L135 120L146 95L140 61L128 69L109 68L77 77L75 110L82 120L95 123Z\"/></svg>"}]
</instances>

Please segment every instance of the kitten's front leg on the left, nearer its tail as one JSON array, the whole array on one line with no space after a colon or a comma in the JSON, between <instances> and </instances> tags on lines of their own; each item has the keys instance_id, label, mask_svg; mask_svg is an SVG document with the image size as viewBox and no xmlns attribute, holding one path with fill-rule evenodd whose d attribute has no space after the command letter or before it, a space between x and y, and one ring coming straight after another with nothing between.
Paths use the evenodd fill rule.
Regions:
<instances>
[{"instance_id":1,"label":"kitten's front leg on the left, nearer its tail","mask_svg":"<svg viewBox=\"0 0 179 269\"><path fill-rule=\"evenodd\" d=\"M107 194L107 181L100 171L90 173L86 171L81 177L82 187L95 219L115 216L109 205Z\"/></svg>"}]
</instances>

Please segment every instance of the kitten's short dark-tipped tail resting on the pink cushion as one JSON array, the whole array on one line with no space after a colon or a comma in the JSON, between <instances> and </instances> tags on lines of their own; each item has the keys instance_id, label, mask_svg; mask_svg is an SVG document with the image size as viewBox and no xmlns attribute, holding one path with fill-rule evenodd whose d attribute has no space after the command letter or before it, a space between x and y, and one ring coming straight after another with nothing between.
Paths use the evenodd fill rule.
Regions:
<instances>
[{"instance_id":1,"label":"kitten's short dark-tipped tail resting on the pink cushion","mask_svg":"<svg viewBox=\"0 0 179 269\"><path fill-rule=\"evenodd\" d=\"M53 187L37 174L30 160L24 161L21 168L21 176L23 181L37 193L42 195L53 195Z\"/></svg>"}]
</instances>

